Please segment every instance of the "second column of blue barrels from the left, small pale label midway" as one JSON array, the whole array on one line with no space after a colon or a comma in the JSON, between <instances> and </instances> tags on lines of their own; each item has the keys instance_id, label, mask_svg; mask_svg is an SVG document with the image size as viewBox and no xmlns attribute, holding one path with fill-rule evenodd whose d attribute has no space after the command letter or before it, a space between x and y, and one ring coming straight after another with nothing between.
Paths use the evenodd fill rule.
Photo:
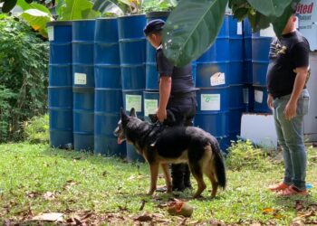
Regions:
<instances>
[{"instance_id":1,"label":"second column of blue barrels from the left, small pale label midway","mask_svg":"<svg viewBox=\"0 0 317 226\"><path fill-rule=\"evenodd\" d=\"M73 140L75 150L93 150L94 20L72 22Z\"/></svg>"}]
</instances>

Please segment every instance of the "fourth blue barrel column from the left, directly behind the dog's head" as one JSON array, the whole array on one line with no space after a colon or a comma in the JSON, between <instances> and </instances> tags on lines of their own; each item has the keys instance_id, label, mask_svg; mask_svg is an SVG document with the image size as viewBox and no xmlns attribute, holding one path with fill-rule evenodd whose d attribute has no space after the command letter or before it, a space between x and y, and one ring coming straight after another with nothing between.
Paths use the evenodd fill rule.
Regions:
<instances>
[{"instance_id":1,"label":"fourth blue barrel column from the left, directly behind the dog's head","mask_svg":"<svg viewBox=\"0 0 317 226\"><path fill-rule=\"evenodd\" d=\"M139 118L144 114L142 100L146 71L146 38L143 34L145 25L145 14L118 18L123 106L127 112L135 108ZM141 160L134 147L129 144L127 158L130 161Z\"/></svg>"}]
</instances>

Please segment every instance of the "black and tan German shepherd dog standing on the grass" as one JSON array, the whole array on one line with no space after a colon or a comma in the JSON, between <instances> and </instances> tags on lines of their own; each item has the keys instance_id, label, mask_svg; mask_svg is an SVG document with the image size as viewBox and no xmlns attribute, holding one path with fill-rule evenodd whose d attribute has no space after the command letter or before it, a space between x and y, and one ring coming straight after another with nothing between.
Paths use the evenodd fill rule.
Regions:
<instances>
[{"instance_id":1,"label":"black and tan German shepherd dog standing on the grass","mask_svg":"<svg viewBox=\"0 0 317 226\"><path fill-rule=\"evenodd\" d=\"M149 163L152 195L157 189L159 165L162 167L168 193L172 192L168 164L187 163L197 180L197 198L206 189L203 174L212 184L211 195L216 196L218 185L226 187L226 167L215 137L198 127L168 127L144 122L131 108L130 116L120 109L120 121L114 130L118 144L123 140L133 144L138 153Z\"/></svg>"}]
</instances>

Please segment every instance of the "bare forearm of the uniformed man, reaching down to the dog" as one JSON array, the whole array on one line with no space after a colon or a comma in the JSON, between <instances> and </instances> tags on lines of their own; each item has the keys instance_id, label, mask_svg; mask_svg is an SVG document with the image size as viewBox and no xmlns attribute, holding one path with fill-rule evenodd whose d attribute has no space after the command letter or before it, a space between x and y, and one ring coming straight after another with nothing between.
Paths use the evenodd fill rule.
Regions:
<instances>
[{"instance_id":1,"label":"bare forearm of the uniformed man, reaching down to the dog","mask_svg":"<svg viewBox=\"0 0 317 226\"><path fill-rule=\"evenodd\" d=\"M159 80L159 109L157 116L160 122L167 118L167 106L172 87L172 78L169 76L161 76Z\"/></svg>"}]
</instances>

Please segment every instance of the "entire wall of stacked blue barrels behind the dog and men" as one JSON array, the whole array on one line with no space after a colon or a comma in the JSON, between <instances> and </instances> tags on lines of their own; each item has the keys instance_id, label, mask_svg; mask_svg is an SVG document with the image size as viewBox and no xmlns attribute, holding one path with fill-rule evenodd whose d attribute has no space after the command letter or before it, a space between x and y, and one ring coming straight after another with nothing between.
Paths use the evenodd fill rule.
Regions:
<instances>
[{"instance_id":1,"label":"entire wall of stacked blue barrels behind the dog and men","mask_svg":"<svg viewBox=\"0 0 317 226\"><path fill-rule=\"evenodd\" d=\"M146 120L158 108L156 50L143 28L167 17L160 12L47 24L51 146L142 160L134 147L119 146L112 132L120 107L135 108ZM273 35L272 28L252 33L247 20L226 15L216 42L193 63L195 126L217 137L224 150L240 134L243 111L271 112L265 79Z\"/></svg>"}]
</instances>

